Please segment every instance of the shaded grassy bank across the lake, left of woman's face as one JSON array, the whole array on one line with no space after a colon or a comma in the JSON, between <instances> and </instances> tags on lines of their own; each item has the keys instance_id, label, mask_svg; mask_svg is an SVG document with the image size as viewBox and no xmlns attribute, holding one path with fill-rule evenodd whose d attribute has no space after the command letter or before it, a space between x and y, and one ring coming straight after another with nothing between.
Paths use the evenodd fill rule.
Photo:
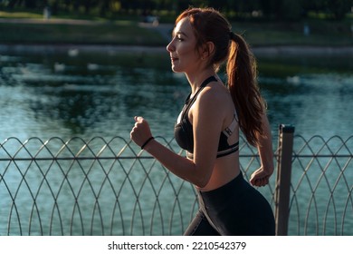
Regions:
<instances>
[{"instance_id":1,"label":"shaded grassy bank across the lake, left of woman's face","mask_svg":"<svg viewBox=\"0 0 353 254\"><path fill-rule=\"evenodd\" d=\"M158 45L156 31L129 22L97 24L0 23L0 44Z\"/></svg>"}]
</instances>

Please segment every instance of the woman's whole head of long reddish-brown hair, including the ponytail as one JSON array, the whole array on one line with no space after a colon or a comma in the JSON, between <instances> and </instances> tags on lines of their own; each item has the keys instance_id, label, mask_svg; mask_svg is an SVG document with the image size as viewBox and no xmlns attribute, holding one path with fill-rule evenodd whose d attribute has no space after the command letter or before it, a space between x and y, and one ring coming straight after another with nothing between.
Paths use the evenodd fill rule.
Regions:
<instances>
[{"instance_id":1,"label":"woman's whole head of long reddish-brown hair, including the ponytail","mask_svg":"<svg viewBox=\"0 0 353 254\"><path fill-rule=\"evenodd\" d=\"M256 61L248 44L232 32L231 24L213 8L189 8L176 18L176 24L187 17L196 34L196 49L207 42L215 44L209 60L215 71L228 59L226 73L228 89L239 117L239 126L246 140L259 143L262 131L264 101L257 84Z\"/></svg>"}]
</instances>

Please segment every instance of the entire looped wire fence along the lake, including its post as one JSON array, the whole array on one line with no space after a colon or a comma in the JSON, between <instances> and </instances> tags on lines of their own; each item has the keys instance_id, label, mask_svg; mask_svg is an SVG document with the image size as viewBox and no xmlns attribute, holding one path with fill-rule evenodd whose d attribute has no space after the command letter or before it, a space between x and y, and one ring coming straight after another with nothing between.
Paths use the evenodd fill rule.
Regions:
<instances>
[{"instance_id":1,"label":"entire looped wire fence along the lake, including its post","mask_svg":"<svg viewBox=\"0 0 353 254\"><path fill-rule=\"evenodd\" d=\"M248 179L260 161L241 143ZM353 234L352 147L353 136L306 141L281 125L277 176L259 189L278 235ZM0 235L180 235L197 208L191 184L121 137L0 144Z\"/></svg>"}]
</instances>

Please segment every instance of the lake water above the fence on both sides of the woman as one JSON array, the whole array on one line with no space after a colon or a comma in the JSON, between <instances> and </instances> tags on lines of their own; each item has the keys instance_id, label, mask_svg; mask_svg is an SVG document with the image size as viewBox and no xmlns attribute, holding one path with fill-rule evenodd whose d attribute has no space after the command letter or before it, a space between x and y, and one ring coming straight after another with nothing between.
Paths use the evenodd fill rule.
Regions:
<instances>
[{"instance_id":1,"label":"lake water above the fence on both sides of the woman","mask_svg":"<svg viewBox=\"0 0 353 254\"><path fill-rule=\"evenodd\" d=\"M259 54L258 64L274 147L281 123L307 139L352 135L352 57ZM167 52L0 51L0 142L129 140L135 115L169 141L188 93L185 76L171 72Z\"/></svg>"}]
</instances>

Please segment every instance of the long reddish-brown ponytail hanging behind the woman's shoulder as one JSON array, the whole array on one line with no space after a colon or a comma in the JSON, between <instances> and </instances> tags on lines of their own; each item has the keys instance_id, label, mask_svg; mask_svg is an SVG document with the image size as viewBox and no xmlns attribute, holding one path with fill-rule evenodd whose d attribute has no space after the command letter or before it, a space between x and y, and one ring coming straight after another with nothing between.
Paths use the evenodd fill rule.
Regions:
<instances>
[{"instance_id":1,"label":"long reddish-brown ponytail hanging behind the woman's shoulder","mask_svg":"<svg viewBox=\"0 0 353 254\"><path fill-rule=\"evenodd\" d=\"M263 136L262 113L265 103L257 84L256 61L239 34L230 33L231 45L226 65L228 89L232 95L239 126L246 140L256 146Z\"/></svg>"}]
</instances>

